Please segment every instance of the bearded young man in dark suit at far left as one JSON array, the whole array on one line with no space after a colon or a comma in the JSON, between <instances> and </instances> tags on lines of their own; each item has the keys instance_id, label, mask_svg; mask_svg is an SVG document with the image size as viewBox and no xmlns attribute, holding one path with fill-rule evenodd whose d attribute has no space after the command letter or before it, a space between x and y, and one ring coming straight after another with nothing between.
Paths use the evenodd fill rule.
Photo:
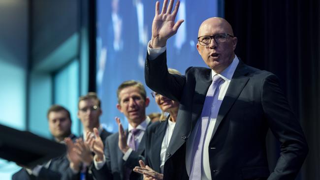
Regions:
<instances>
[{"instance_id":1,"label":"bearded young man in dark suit at far left","mask_svg":"<svg viewBox=\"0 0 320 180\"><path fill-rule=\"evenodd\" d=\"M67 109L60 105L52 105L47 113L49 130L56 142L64 143L64 138L74 140L71 134L71 118ZM12 180L68 180L72 179L73 172L70 170L66 155L56 157L43 165L22 168L12 176Z\"/></svg>"}]
</instances>

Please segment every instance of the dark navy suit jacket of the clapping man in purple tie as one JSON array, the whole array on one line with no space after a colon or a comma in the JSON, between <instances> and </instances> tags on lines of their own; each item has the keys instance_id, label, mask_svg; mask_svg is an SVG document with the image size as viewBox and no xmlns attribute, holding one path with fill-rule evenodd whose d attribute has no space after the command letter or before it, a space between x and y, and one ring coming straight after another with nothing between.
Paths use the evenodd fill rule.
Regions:
<instances>
[{"instance_id":1,"label":"dark navy suit jacket of the clapping man in purple tie","mask_svg":"<svg viewBox=\"0 0 320 180\"><path fill-rule=\"evenodd\" d=\"M149 123L148 125L150 125ZM128 129L127 129L128 134ZM124 180L126 169L133 169L139 166L139 160L144 160L145 135L139 144L138 150L132 151L127 161L122 158L124 153L119 149L119 133L114 133L105 141L104 154L106 163L99 170L93 168L93 174L96 180ZM142 180L143 176L132 171L130 180Z\"/></svg>"}]
</instances>

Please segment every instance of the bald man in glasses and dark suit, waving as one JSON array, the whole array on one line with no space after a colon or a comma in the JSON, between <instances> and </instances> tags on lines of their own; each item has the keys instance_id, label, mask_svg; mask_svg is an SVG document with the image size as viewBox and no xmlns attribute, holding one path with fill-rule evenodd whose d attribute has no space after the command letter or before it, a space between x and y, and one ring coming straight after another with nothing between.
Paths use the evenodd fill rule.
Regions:
<instances>
[{"instance_id":1,"label":"bald man in glasses and dark suit, waving","mask_svg":"<svg viewBox=\"0 0 320 180\"><path fill-rule=\"evenodd\" d=\"M217 17L205 20L198 31L196 48L209 68L169 74L165 45L183 23L175 23L179 1L173 3L164 0L161 12L156 3L145 62L146 84L180 102L163 179L293 180L308 146L278 78L239 60L234 54L237 37ZM281 143L271 174L265 147L269 128Z\"/></svg>"}]
</instances>

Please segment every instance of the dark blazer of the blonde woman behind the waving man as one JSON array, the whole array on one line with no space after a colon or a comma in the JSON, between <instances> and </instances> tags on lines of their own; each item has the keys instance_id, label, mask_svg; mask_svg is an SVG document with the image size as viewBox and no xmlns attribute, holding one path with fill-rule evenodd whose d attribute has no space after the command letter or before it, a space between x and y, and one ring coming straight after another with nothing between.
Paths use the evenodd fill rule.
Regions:
<instances>
[{"instance_id":1,"label":"dark blazer of the blonde woman behind the waving man","mask_svg":"<svg viewBox=\"0 0 320 180\"><path fill-rule=\"evenodd\" d=\"M146 133L146 151L145 151L145 164L150 166L153 170L160 173L160 151L168 124L168 118L165 121L157 121L152 123Z\"/></svg>"}]
</instances>

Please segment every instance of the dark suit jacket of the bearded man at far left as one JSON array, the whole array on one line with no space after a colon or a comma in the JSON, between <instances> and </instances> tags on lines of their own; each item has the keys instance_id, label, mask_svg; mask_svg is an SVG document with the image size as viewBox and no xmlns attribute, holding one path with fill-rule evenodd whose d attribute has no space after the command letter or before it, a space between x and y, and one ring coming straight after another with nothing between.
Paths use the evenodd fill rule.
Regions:
<instances>
[{"instance_id":1,"label":"dark suit jacket of the bearded man at far left","mask_svg":"<svg viewBox=\"0 0 320 180\"><path fill-rule=\"evenodd\" d=\"M70 137L72 140L76 139L74 135ZM12 180L71 180L74 176L69 168L69 161L64 154L52 158L49 167L42 167L37 177L29 175L26 169L22 168L12 176Z\"/></svg>"}]
</instances>

